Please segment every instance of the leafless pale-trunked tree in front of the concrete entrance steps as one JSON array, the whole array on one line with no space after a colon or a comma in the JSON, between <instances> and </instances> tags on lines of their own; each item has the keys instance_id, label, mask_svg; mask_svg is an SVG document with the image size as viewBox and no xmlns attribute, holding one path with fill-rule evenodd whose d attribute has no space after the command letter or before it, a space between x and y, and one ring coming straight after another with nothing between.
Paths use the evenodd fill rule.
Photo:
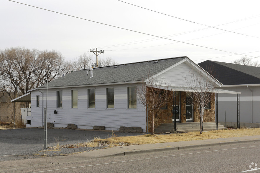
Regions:
<instances>
[{"instance_id":1,"label":"leafless pale-trunked tree in front of the concrete entrance steps","mask_svg":"<svg viewBox=\"0 0 260 173\"><path fill-rule=\"evenodd\" d=\"M200 134L203 129L204 109L212 101L212 94L217 87L217 80L210 75L212 68L208 68L207 71L208 73L203 69L192 67L190 75L183 76L187 85L182 89L190 95L191 99L188 102L198 109L200 114Z\"/></svg>"}]
</instances>

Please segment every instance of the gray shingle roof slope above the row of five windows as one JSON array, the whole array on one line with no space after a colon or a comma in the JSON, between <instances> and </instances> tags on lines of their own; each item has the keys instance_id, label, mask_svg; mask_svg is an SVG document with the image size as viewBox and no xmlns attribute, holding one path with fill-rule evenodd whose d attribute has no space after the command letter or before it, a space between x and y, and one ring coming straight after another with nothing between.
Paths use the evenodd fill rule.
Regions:
<instances>
[{"instance_id":1,"label":"gray shingle roof slope above the row of five windows","mask_svg":"<svg viewBox=\"0 0 260 173\"><path fill-rule=\"evenodd\" d=\"M168 67L182 61L185 58L187 57L182 56L175 58L158 59L152 61L143 61L129 64L93 68L94 77L92 78L90 78L90 72L88 73L88 76L86 76L87 70L89 69L73 71L70 74L67 74L54 81L49 82L48 87L80 86L141 81L143 79L147 79L148 74L157 74L160 71L163 71L164 69L167 69ZM158 62L154 63L156 61ZM39 88L43 87L46 87L46 84L40 86Z\"/></svg>"}]
</instances>

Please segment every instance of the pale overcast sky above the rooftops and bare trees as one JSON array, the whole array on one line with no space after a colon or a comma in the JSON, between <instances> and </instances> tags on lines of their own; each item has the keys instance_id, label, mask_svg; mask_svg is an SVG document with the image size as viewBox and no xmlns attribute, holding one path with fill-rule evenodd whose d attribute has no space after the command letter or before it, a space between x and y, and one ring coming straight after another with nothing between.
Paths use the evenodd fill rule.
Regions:
<instances>
[{"instance_id":1,"label":"pale overcast sky above the rooftops and bare trees","mask_svg":"<svg viewBox=\"0 0 260 173\"><path fill-rule=\"evenodd\" d=\"M243 55L260 62L258 0L123 1L136 6L118 0L17 0L67 16L1 0L0 49L54 49L75 61L84 53L95 60L88 51L97 47L105 51L99 58L119 64L177 56L231 63Z\"/></svg>"}]
</instances>

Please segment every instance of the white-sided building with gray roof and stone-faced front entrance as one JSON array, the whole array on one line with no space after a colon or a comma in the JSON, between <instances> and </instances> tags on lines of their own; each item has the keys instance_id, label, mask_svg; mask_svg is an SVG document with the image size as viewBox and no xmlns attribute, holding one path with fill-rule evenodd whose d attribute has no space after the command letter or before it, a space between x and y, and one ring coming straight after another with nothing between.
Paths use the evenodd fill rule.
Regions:
<instances>
[{"instance_id":1,"label":"white-sided building with gray roof and stone-faced front entrance","mask_svg":"<svg viewBox=\"0 0 260 173\"><path fill-rule=\"evenodd\" d=\"M136 91L140 84L149 80L149 75L168 82L176 96L157 113L155 128L162 123L172 123L173 109L179 122L200 121L198 111L186 103L189 95L184 90L187 83L183 76L189 76L190 69L203 71L204 78L207 76L205 70L186 56L83 69L32 89L12 101L22 102L31 98L31 127L43 126L44 107L47 105L47 122L53 123L54 127L75 124L83 129L105 126L107 130L118 130L125 126L141 127L146 132L151 128L151 115L139 102ZM212 79L210 77L210 82L221 86L220 82ZM215 92L236 93L221 89ZM214 108L213 96L205 110L204 122L215 121Z\"/></svg>"}]
</instances>

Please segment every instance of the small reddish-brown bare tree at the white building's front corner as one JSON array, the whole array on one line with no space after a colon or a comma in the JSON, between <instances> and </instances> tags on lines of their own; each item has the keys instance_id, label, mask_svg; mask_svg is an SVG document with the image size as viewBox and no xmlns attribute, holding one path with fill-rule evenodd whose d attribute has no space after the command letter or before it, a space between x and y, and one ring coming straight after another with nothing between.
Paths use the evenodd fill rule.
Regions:
<instances>
[{"instance_id":1,"label":"small reddish-brown bare tree at the white building's front corner","mask_svg":"<svg viewBox=\"0 0 260 173\"><path fill-rule=\"evenodd\" d=\"M154 116L160 108L173 99L170 85L158 77L148 75L149 80L143 80L137 88L136 95L142 106L152 114L152 135L154 134Z\"/></svg>"}]
</instances>

